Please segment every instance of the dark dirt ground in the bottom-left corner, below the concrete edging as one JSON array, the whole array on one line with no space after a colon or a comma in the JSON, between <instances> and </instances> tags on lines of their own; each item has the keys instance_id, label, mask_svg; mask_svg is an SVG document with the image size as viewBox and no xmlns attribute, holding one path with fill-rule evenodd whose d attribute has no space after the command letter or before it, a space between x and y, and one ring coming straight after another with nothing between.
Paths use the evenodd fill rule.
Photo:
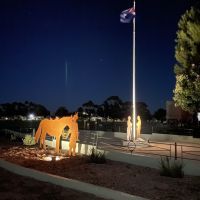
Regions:
<instances>
[{"instance_id":1,"label":"dark dirt ground in the bottom-left corner, below the concrete edging","mask_svg":"<svg viewBox=\"0 0 200 200\"><path fill-rule=\"evenodd\" d=\"M19 176L0 168L1 200L103 200L94 195L77 192L53 184Z\"/></svg>"}]
</instances>

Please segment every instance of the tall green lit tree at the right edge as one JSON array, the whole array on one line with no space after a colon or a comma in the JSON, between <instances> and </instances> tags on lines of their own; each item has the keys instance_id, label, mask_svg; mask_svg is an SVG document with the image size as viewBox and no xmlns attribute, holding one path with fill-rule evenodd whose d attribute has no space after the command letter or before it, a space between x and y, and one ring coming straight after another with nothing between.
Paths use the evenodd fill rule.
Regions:
<instances>
[{"instance_id":1,"label":"tall green lit tree at the right edge","mask_svg":"<svg viewBox=\"0 0 200 200\"><path fill-rule=\"evenodd\" d=\"M175 105L196 116L200 111L200 6L186 11L179 23L175 47Z\"/></svg>"}]
</instances>

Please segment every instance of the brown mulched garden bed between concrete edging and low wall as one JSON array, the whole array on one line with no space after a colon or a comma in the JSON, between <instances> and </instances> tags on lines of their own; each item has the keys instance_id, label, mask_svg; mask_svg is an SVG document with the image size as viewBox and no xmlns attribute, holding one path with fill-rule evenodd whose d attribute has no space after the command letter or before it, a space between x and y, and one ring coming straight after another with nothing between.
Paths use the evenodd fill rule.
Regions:
<instances>
[{"instance_id":1,"label":"brown mulched garden bed between concrete edging and low wall","mask_svg":"<svg viewBox=\"0 0 200 200\"><path fill-rule=\"evenodd\" d=\"M149 199L199 199L200 177L185 176L170 178L160 176L159 170L107 160L104 164L88 162L88 157L67 157L67 152L56 161L53 149L43 150L38 146L26 147L0 138L0 158L9 162L108 187ZM52 161L47 161L49 156ZM58 155L57 155L58 156Z\"/></svg>"}]
</instances>

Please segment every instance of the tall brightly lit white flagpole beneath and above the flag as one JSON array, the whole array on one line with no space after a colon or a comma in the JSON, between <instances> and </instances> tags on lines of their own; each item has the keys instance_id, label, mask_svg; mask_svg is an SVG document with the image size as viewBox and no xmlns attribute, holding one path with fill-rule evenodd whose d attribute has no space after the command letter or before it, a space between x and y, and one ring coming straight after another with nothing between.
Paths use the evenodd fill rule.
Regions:
<instances>
[{"instance_id":1,"label":"tall brightly lit white flagpole beneath and above the flag","mask_svg":"<svg viewBox=\"0 0 200 200\"><path fill-rule=\"evenodd\" d=\"M133 2L133 8L135 11L135 0ZM133 18L133 114L132 114L132 127L133 127L133 140L136 138L136 70L135 70L135 17Z\"/></svg>"}]
</instances>

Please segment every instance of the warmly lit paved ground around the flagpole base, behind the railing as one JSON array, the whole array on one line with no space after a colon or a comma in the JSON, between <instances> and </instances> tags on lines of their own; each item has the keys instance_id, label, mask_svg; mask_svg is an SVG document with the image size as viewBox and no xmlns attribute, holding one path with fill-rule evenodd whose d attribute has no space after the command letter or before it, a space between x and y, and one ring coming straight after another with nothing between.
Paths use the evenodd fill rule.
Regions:
<instances>
[{"instance_id":1,"label":"warmly lit paved ground around the flagpole base, behind the railing","mask_svg":"<svg viewBox=\"0 0 200 200\"><path fill-rule=\"evenodd\" d=\"M176 143L175 142L145 142L145 145L136 143L135 148L128 148L127 142L121 138L116 138L112 133L98 135L94 132L81 132L79 134L81 143L98 146L100 149L123 151L132 154L142 154L151 156L168 156L180 159L200 161L200 144Z\"/></svg>"}]
</instances>

